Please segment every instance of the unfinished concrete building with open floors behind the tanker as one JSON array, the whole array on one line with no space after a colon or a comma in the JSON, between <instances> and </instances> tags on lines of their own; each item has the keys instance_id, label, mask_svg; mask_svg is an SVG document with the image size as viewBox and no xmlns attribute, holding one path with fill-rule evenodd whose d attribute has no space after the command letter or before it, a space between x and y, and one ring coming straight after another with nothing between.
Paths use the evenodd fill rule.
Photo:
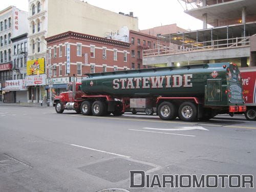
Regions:
<instances>
[{"instance_id":1,"label":"unfinished concrete building with open floors behind the tanker","mask_svg":"<svg viewBox=\"0 0 256 192\"><path fill-rule=\"evenodd\" d=\"M256 66L255 0L178 1L185 13L202 20L203 29L162 35L168 46L145 50L143 65L231 61Z\"/></svg>"}]
</instances>

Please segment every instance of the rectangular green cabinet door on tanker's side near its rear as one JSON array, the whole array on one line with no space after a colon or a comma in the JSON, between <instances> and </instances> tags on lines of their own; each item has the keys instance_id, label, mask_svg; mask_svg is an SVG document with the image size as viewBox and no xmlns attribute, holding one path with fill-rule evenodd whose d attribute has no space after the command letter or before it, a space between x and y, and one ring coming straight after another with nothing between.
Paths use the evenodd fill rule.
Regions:
<instances>
[{"instance_id":1,"label":"rectangular green cabinet door on tanker's side near its rear","mask_svg":"<svg viewBox=\"0 0 256 192\"><path fill-rule=\"evenodd\" d=\"M205 104L221 102L221 79L208 79L205 87Z\"/></svg>"}]
</instances>

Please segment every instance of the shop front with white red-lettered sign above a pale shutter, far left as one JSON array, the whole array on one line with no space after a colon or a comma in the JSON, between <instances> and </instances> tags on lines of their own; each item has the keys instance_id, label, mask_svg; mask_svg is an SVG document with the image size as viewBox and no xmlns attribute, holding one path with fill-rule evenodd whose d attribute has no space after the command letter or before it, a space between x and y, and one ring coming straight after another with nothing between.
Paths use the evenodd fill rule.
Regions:
<instances>
[{"instance_id":1,"label":"shop front with white red-lettered sign above a pale shutter, far left","mask_svg":"<svg viewBox=\"0 0 256 192\"><path fill-rule=\"evenodd\" d=\"M25 79L7 80L5 82L7 102L28 102L27 87Z\"/></svg>"}]
</instances>

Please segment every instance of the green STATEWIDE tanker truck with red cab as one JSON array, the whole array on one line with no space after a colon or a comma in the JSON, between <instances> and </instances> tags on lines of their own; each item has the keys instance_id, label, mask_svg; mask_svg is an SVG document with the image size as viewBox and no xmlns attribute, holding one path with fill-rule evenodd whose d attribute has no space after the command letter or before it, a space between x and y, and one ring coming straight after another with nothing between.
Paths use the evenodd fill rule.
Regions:
<instances>
[{"instance_id":1,"label":"green STATEWIDE tanker truck with red cab","mask_svg":"<svg viewBox=\"0 0 256 192\"><path fill-rule=\"evenodd\" d=\"M54 98L57 113L120 116L156 108L163 120L196 121L246 111L241 74L231 62L84 75L72 92Z\"/></svg>"}]
</instances>

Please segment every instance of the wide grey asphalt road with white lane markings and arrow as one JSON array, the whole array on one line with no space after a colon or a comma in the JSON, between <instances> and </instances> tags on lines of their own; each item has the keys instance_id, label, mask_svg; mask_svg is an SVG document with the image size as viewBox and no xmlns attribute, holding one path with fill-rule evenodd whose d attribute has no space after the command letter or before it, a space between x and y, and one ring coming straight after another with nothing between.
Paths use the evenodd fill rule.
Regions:
<instances>
[{"instance_id":1,"label":"wide grey asphalt road with white lane markings and arrow","mask_svg":"<svg viewBox=\"0 0 256 192\"><path fill-rule=\"evenodd\" d=\"M151 179L154 174L256 176L255 159L256 124L243 116L183 122L143 114L93 117L0 106L1 192L255 191L130 188L130 170L144 170Z\"/></svg>"}]
</instances>

